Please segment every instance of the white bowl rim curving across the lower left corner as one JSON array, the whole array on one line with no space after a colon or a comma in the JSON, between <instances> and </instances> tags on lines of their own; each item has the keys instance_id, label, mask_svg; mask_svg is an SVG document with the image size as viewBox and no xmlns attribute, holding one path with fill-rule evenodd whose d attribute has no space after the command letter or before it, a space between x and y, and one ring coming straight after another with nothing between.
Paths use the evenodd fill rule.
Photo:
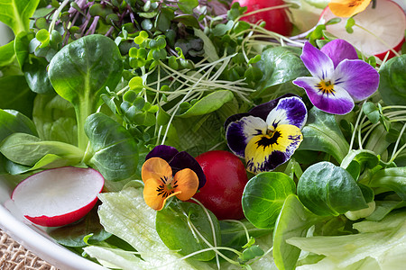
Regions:
<instances>
[{"instance_id":1,"label":"white bowl rim curving across the lower left corner","mask_svg":"<svg viewBox=\"0 0 406 270\"><path fill-rule=\"evenodd\" d=\"M0 176L0 228L6 234L61 270L106 270L105 267L60 246L46 234L45 230L25 220L13 207L14 204L10 199L12 191L12 186L7 185Z\"/></svg>"}]
</instances>

